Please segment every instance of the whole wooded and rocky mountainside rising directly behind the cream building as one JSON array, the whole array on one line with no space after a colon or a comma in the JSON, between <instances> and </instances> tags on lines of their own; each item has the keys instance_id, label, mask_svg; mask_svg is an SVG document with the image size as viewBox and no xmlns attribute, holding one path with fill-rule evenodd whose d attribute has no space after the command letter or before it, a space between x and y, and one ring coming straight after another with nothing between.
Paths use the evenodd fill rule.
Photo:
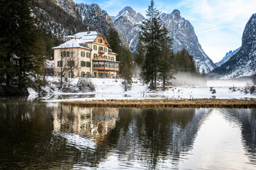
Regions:
<instances>
[{"instance_id":1,"label":"whole wooded and rocky mountainside rising directly behind the cream building","mask_svg":"<svg viewBox=\"0 0 256 170\"><path fill-rule=\"evenodd\" d=\"M97 4L75 4L73 0L32 0L39 26L49 37L62 40L67 35L86 30L99 30L108 35L110 28L115 29L108 13ZM117 30L118 31L118 30ZM118 31L121 43L128 47L126 38Z\"/></svg>"}]
</instances>

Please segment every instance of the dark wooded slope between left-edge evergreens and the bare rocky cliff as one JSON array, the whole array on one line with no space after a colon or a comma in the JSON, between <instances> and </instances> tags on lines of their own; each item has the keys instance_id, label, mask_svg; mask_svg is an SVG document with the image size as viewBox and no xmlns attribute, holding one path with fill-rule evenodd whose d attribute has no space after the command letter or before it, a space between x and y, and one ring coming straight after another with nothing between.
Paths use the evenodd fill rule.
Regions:
<instances>
[{"instance_id":1,"label":"dark wooded slope between left-edge evergreens and the bare rocky cliff","mask_svg":"<svg viewBox=\"0 0 256 170\"><path fill-rule=\"evenodd\" d=\"M32 10L38 17L38 25L48 37L61 40L64 36L86 30L74 13L72 0L33 0ZM72 14L71 14L72 13Z\"/></svg>"}]
</instances>

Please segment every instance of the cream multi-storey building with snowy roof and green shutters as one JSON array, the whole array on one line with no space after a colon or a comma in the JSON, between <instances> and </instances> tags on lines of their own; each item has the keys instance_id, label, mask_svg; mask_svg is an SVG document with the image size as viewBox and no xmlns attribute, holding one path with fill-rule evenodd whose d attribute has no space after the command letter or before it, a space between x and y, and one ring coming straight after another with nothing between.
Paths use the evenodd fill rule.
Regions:
<instances>
[{"instance_id":1,"label":"cream multi-storey building with snowy roof and green shutters","mask_svg":"<svg viewBox=\"0 0 256 170\"><path fill-rule=\"evenodd\" d=\"M55 76L116 78L119 62L106 37L98 31L69 35L53 47Z\"/></svg>"}]
</instances>

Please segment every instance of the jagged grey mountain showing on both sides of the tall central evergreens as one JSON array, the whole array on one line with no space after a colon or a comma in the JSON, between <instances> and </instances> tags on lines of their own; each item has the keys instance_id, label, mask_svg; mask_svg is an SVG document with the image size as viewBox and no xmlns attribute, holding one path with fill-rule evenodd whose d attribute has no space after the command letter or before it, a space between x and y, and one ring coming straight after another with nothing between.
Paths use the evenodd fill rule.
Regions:
<instances>
[{"instance_id":1,"label":"jagged grey mountain showing on both sides of the tall central evergreens","mask_svg":"<svg viewBox=\"0 0 256 170\"><path fill-rule=\"evenodd\" d=\"M210 72L216 65L205 54L199 44L199 40L194 33L194 27L180 16L179 10L175 9L172 13L162 13L160 18L169 30L169 36L172 38L174 53L179 52L183 48L193 55L196 66L200 72ZM144 17L140 13L136 13L130 6L123 8L116 17L113 18L115 28L126 37L130 49L135 52L140 33L139 24Z\"/></svg>"}]
</instances>

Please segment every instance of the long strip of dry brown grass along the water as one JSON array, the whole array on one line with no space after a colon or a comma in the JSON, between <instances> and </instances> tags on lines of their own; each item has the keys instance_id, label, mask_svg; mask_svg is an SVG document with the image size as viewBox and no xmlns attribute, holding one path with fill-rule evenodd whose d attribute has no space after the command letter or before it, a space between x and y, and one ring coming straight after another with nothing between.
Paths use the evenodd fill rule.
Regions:
<instances>
[{"instance_id":1,"label":"long strip of dry brown grass along the water","mask_svg":"<svg viewBox=\"0 0 256 170\"><path fill-rule=\"evenodd\" d=\"M61 104L88 108L256 108L256 101L236 99L62 101Z\"/></svg>"}]
</instances>

